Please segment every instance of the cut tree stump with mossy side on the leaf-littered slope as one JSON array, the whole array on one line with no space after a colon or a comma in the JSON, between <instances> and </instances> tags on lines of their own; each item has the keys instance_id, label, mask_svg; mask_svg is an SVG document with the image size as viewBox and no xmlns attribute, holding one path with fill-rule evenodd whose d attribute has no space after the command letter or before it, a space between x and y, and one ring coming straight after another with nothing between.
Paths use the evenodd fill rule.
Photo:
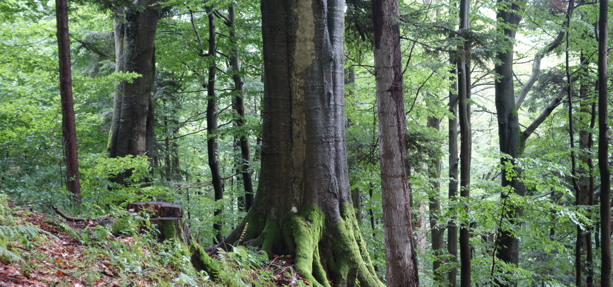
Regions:
<instances>
[{"instance_id":1,"label":"cut tree stump with mossy side on the leaf-littered slope","mask_svg":"<svg viewBox=\"0 0 613 287\"><path fill-rule=\"evenodd\" d=\"M204 270L211 278L219 275L218 265L189 233L189 226L183 218L181 206L158 201L143 201L128 204L129 212L153 212L149 221L159 229L161 240L175 239L183 243L190 253L191 263L196 270Z\"/></svg>"}]
</instances>

